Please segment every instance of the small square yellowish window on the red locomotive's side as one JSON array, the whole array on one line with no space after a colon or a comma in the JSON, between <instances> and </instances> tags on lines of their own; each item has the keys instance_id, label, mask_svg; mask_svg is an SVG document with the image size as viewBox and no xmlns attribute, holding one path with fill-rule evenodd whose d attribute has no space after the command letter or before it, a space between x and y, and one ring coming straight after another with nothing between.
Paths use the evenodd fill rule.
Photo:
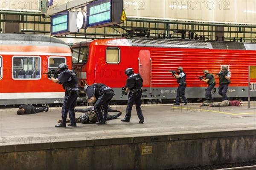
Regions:
<instances>
[{"instance_id":1,"label":"small square yellowish window on the red locomotive's side","mask_svg":"<svg viewBox=\"0 0 256 170\"><path fill-rule=\"evenodd\" d=\"M108 47L106 49L106 62L107 63L119 63L120 62L120 50L116 47Z\"/></svg>"}]
</instances>

